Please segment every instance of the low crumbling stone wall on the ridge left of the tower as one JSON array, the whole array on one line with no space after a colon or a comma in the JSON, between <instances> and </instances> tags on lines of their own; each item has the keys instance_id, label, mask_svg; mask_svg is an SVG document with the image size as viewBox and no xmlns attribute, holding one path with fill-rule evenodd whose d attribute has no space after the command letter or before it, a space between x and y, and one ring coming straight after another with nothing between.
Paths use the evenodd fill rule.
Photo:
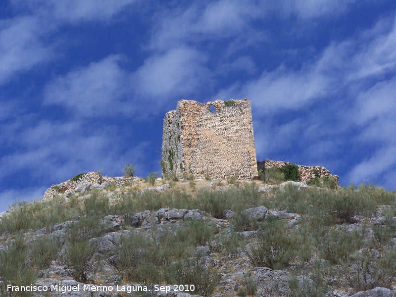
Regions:
<instances>
[{"instance_id":1,"label":"low crumbling stone wall on the ridge left of the tower","mask_svg":"<svg viewBox=\"0 0 396 297\"><path fill-rule=\"evenodd\" d=\"M122 187L125 183L139 183L142 179L139 177L101 177L101 184L115 184L117 187ZM53 198L56 194L66 194L68 191L73 191L81 183L91 183L93 185L100 183L100 175L96 172L85 173L79 180L60 183L51 186L44 193L43 199Z\"/></svg>"}]
</instances>

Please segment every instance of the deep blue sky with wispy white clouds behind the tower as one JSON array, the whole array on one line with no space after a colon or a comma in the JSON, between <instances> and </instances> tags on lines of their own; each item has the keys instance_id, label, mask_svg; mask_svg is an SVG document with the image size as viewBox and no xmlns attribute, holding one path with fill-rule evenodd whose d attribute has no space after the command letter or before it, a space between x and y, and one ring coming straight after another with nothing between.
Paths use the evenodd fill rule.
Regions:
<instances>
[{"instance_id":1,"label":"deep blue sky with wispy white clouds behind the tower","mask_svg":"<svg viewBox=\"0 0 396 297\"><path fill-rule=\"evenodd\" d=\"M396 1L2 0L0 211L159 172L178 100L243 98L258 160L394 190Z\"/></svg>"}]
</instances>

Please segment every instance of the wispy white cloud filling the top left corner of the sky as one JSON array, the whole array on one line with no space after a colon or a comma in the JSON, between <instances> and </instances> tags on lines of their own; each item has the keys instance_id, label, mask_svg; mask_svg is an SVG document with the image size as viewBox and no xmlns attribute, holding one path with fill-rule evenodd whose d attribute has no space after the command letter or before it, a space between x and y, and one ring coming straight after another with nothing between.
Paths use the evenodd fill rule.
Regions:
<instances>
[{"instance_id":1,"label":"wispy white cloud filling the top left corner of the sky","mask_svg":"<svg viewBox=\"0 0 396 297\"><path fill-rule=\"evenodd\" d=\"M14 10L22 13L0 21L0 85L16 74L53 59L54 49L58 47L58 38L53 39L53 33L61 25L110 21L132 2L134 0L12 1Z\"/></svg>"}]
</instances>

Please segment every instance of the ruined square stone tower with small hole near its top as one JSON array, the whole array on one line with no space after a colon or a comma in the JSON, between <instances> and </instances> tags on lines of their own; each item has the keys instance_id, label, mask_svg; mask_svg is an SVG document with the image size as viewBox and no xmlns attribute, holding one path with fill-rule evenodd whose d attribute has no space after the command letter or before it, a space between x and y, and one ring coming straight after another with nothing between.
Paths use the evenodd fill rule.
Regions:
<instances>
[{"instance_id":1,"label":"ruined square stone tower with small hole near its top","mask_svg":"<svg viewBox=\"0 0 396 297\"><path fill-rule=\"evenodd\" d=\"M258 176L250 100L181 100L165 114L162 173L197 178Z\"/></svg>"}]
</instances>

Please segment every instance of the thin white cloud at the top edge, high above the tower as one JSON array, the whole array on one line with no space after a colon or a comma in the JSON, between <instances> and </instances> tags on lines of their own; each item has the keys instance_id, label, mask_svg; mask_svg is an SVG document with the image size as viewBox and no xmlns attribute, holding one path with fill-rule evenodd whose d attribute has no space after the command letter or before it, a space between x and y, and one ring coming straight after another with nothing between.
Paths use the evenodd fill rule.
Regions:
<instances>
[{"instance_id":1,"label":"thin white cloud at the top edge, high above the tower","mask_svg":"<svg viewBox=\"0 0 396 297\"><path fill-rule=\"evenodd\" d=\"M250 22L263 14L265 10L250 1L219 0L207 5L194 2L187 8L156 15L151 47L169 49L202 40L251 36L247 34L247 30L249 33L254 31L251 30Z\"/></svg>"}]
</instances>

